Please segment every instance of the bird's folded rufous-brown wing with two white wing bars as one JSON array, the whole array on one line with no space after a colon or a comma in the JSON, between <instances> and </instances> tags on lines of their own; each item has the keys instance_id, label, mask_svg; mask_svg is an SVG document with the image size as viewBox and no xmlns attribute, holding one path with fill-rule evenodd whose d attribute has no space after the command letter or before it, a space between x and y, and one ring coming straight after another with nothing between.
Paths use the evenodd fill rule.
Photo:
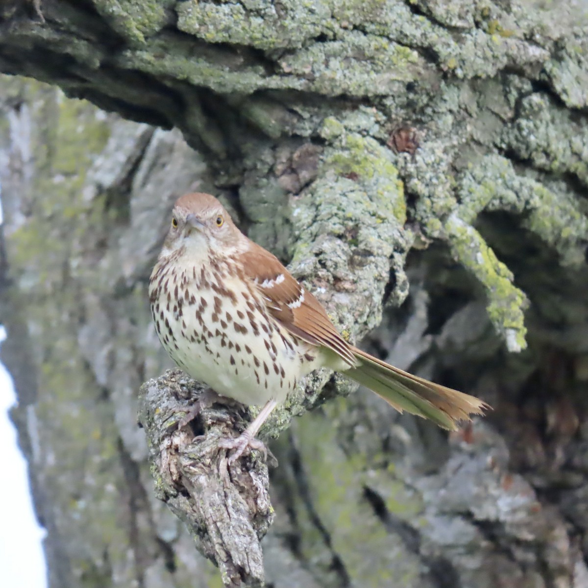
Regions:
<instances>
[{"instance_id":1,"label":"bird's folded rufous-brown wing with two white wing bars","mask_svg":"<svg viewBox=\"0 0 588 588\"><path fill-rule=\"evenodd\" d=\"M339 334L320 302L275 255L250 243L250 249L241 256L243 269L265 297L269 313L292 335L312 345L324 345L350 366L356 366L352 347Z\"/></svg>"}]
</instances>

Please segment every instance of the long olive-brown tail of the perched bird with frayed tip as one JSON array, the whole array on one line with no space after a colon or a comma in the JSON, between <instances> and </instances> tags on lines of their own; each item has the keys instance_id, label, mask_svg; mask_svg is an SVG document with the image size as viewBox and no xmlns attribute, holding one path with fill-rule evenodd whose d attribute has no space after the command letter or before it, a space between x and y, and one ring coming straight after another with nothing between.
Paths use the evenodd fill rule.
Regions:
<instances>
[{"instance_id":1,"label":"long olive-brown tail of the perched bird with frayed tip","mask_svg":"<svg viewBox=\"0 0 588 588\"><path fill-rule=\"evenodd\" d=\"M444 429L456 430L458 420L470 420L470 415L481 415L490 408L474 396L413 376L356 347L352 350L360 365L346 370L345 375L373 390L400 412L406 410Z\"/></svg>"}]
</instances>

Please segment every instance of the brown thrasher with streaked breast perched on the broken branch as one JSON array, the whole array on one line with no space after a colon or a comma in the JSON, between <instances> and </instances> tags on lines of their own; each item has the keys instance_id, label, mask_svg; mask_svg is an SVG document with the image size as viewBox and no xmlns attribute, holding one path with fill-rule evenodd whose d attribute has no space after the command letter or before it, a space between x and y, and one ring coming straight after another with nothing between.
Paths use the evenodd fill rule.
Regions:
<instances>
[{"instance_id":1,"label":"brown thrasher with streaked breast perched on the broken branch","mask_svg":"<svg viewBox=\"0 0 588 588\"><path fill-rule=\"evenodd\" d=\"M255 435L270 412L300 377L321 367L445 429L487 407L350 345L320 302L209 194L176 201L149 299L159 339L179 367L219 395L263 405L242 435L222 442L236 449L231 461L262 446Z\"/></svg>"}]
</instances>

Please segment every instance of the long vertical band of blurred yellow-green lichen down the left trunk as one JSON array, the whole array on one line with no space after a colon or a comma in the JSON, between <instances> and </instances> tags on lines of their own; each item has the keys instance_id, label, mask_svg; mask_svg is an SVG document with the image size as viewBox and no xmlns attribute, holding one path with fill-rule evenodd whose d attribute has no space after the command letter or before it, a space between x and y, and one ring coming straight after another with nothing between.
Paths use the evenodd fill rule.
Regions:
<instances>
[{"instance_id":1,"label":"long vertical band of blurred yellow-green lichen down the left trunk","mask_svg":"<svg viewBox=\"0 0 588 588\"><path fill-rule=\"evenodd\" d=\"M25 114L30 117L31 136L23 140L32 149L25 162L31 172L31 193L19 201L28 210L26 222L15 223L7 215L8 224L17 228L6 235L15 285L6 292L12 316L5 317L5 324L9 336L19 325L34 333L39 369L31 409L42 423L35 429L39 459L45 459L46 447L52 452L44 464L44 493L58 513L54 524L74 532L83 529L85 537L83 553L65 544L72 573L91 585L101 574L109 576L108 566L102 569L99 563L106 557L118 569L131 571L128 577L121 576L128 584L134 569L126 560L128 528L121 524L116 487L124 479L119 469L119 430L114 406L104 401L79 345L81 326L88 317L83 316L81 282L74 278L84 267L81 261L89 236L105 222L100 211L95 217L86 215L92 203L83 188L88 169L108 139L111 121L87 102L65 99L54 88L20 83L29 105ZM9 213L14 209L10 207ZM91 274L87 266L83 271ZM84 287L91 292L89 283ZM22 390L23 399L33 392Z\"/></svg>"}]
</instances>

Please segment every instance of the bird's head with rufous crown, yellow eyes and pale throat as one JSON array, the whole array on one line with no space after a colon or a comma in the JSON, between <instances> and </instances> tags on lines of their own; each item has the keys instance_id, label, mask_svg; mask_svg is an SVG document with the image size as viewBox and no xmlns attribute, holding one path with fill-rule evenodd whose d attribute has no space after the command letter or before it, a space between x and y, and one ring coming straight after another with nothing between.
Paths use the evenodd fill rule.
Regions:
<instances>
[{"instance_id":1,"label":"bird's head with rufous crown, yellow eyes and pale throat","mask_svg":"<svg viewBox=\"0 0 588 588\"><path fill-rule=\"evenodd\" d=\"M223 205L214 196L197 192L181 196L173 206L163 254L183 248L191 256L208 250L229 256L242 250L246 242Z\"/></svg>"}]
</instances>

